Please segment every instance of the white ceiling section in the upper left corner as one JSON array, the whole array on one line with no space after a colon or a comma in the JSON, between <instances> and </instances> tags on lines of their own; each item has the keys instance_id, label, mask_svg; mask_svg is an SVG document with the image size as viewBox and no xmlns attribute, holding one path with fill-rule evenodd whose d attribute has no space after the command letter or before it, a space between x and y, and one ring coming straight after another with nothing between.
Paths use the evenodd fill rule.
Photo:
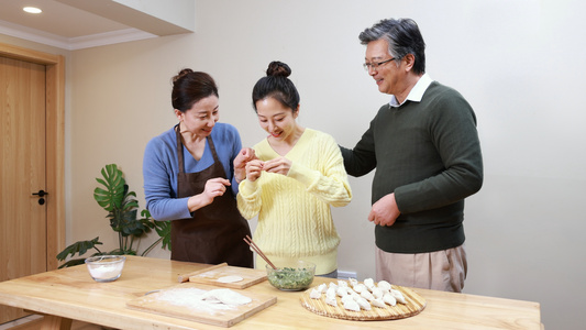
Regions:
<instances>
[{"instance_id":1,"label":"white ceiling section in the upper left corner","mask_svg":"<svg viewBox=\"0 0 586 330\"><path fill-rule=\"evenodd\" d=\"M0 33L66 50L189 33L195 30L194 2L0 0ZM24 6L43 12L24 12Z\"/></svg>"}]
</instances>

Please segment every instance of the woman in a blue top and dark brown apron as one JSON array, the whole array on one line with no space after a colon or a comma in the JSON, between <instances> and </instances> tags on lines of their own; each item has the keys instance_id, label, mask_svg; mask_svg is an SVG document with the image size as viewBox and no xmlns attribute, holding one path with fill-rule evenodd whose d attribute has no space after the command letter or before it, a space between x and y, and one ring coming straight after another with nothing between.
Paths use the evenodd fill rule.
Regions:
<instances>
[{"instance_id":1,"label":"woman in a blue top and dark brown apron","mask_svg":"<svg viewBox=\"0 0 586 330\"><path fill-rule=\"evenodd\" d=\"M181 70L172 103L179 123L148 142L143 162L146 208L172 221L172 260L252 267L243 241L251 230L235 199L251 154L241 152L234 127L218 122L218 87L208 74Z\"/></svg>"}]
</instances>

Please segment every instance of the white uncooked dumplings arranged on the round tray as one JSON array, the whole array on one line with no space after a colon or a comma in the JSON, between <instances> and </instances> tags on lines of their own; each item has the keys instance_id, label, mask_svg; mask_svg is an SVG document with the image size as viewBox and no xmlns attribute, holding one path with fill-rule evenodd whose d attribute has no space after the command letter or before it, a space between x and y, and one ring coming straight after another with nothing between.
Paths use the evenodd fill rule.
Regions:
<instances>
[{"instance_id":1,"label":"white uncooked dumplings arranged on the round tray","mask_svg":"<svg viewBox=\"0 0 586 330\"><path fill-rule=\"evenodd\" d=\"M322 295L325 295L325 304L334 307L338 307L336 296L340 297L343 308L353 311L371 310L373 307L386 308L386 305L395 306L397 302L407 304L401 292L394 289L390 283L380 280L375 284L373 278L366 278L363 283L349 278L349 282L321 284L311 289L309 297L321 299Z\"/></svg>"}]
</instances>

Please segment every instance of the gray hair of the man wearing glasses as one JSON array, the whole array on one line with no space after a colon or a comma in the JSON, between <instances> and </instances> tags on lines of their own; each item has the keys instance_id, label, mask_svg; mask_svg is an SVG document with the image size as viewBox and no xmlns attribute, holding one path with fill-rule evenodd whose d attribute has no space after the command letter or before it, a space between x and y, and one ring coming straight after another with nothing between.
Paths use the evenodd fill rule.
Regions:
<instances>
[{"instance_id":1,"label":"gray hair of the man wearing glasses","mask_svg":"<svg viewBox=\"0 0 586 330\"><path fill-rule=\"evenodd\" d=\"M416 57L413 73L418 75L425 73L425 42L413 20L382 20L361 32L358 38L363 45L377 40L386 40L390 56L401 59L407 54L412 54Z\"/></svg>"}]
</instances>

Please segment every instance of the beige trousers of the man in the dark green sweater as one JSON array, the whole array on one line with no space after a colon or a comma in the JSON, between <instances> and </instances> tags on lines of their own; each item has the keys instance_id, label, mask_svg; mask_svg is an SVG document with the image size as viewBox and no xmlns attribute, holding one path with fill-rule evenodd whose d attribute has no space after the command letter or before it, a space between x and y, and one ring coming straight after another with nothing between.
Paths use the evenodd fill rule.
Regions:
<instances>
[{"instance_id":1,"label":"beige trousers of the man in the dark green sweater","mask_svg":"<svg viewBox=\"0 0 586 330\"><path fill-rule=\"evenodd\" d=\"M464 244L430 253L388 253L376 249L376 279L407 287L461 293L466 279Z\"/></svg>"}]
</instances>

